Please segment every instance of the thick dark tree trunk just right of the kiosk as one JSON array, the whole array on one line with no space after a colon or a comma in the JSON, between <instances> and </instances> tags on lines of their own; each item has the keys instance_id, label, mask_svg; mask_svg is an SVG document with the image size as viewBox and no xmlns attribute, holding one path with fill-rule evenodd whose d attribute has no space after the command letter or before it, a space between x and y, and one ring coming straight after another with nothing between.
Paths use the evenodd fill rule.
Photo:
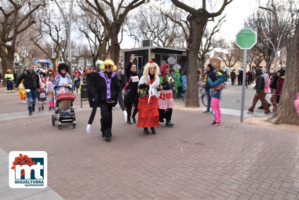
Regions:
<instances>
[{"instance_id":1,"label":"thick dark tree trunk just right of the kiosk","mask_svg":"<svg viewBox=\"0 0 299 200\"><path fill-rule=\"evenodd\" d=\"M186 107L199 107L197 89L197 58L200 51L201 40L208 22L208 17L202 13L200 16L188 17L190 35L186 48L187 52L187 96Z\"/></svg>"}]
</instances>

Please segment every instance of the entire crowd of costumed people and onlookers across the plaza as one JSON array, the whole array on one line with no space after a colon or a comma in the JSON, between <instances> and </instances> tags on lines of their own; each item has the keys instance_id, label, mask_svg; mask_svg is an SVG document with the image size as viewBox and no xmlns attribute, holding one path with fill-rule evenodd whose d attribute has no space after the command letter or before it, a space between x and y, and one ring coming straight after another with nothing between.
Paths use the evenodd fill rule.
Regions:
<instances>
[{"instance_id":1,"label":"entire crowd of costumed people and onlookers across the plaza","mask_svg":"<svg viewBox=\"0 0 299 200\"><path fill-rule=\"evenodd\" d=\"M57 65L57 72L50 67L46 72L42 69L36 70L34 64L22 71L17 70L15 74L7 70L5 78L7 80L7 92L14 92L13 82L21 98L21 103L26 103L29 115L35 111L35 104L38 103L38 110L44 110L44 104L49 102L49 111L55 109L54 92L70 92L72 86L74 91L80 90L80 85L87 83L88 100L92 108L86 131L91 132L96 109L101 108L101 131L107 141L112 137L112 109L118 103L124 111L126 122L129 125L137 123L137 127L143 128L145 134L149 134L149 128L153 134L156 134L155 127L159 123L172 127L171 122L172 109L174 105L174 76L180 82L180 74L177 70L170 73L170 66L167 63L161 64L149 61L144 66L143 75L137 73L134 64L135 55L131 55L131 60L126 67L125 74L115 73L117 69L112 60L105 60L101 65L102 71L95 72L92 68L86 68L81 71L78 68L73 70L73 77L68 72L68 65L60 62ZM269 107L272 106L272 112L277 110L280 101L280 94L284 82L284 69L278 72L268 73L265 68L256 68L255 72L246 73L245 85L250 85L254 81L256 93L253 97L252 106L247 110L253 113L258 100L261 106L258 109L264 109L265 115L271 113ZM238 73L233 69L230 73L227 70L216 70L212 64L208 64L205 74L205 93L208 99L207 110L203 113L213 114L213 126L221 123L220 100L222 89L227 82L231 84L243 83L243 70ZM176 85L181 87L181 82ZM265 99L265 95L271 93L270 103ZM124 95L124 98L123 98ZM132 112L133 111L133 112ZM136 115L138 113L138 120ZM164 121L165 120L165 121Z\"/></svg>"}]
</instances>

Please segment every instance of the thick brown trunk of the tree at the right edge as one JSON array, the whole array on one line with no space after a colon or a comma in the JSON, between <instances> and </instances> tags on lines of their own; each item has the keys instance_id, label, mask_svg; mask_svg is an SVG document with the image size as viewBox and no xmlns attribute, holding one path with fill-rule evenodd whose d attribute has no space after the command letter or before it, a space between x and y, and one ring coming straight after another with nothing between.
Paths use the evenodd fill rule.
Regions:
<instances>
[{"instance_id":1,"label":"thick brown trunk of the tree at the right edge","mask_svg":"<svg viewBox=\"0 0 299 200\"><path fill-rule=\"evenodd\" d=\"M293 38L290 41L289 48L286 49L287 67L285 69L285 79L280 96L280 103L276 113L266 122L273 124L290 124L299 125L299 116L294 108L294 101L299 91L299 24L296 24L296 29Z\"/></svg>"}]
</instances>

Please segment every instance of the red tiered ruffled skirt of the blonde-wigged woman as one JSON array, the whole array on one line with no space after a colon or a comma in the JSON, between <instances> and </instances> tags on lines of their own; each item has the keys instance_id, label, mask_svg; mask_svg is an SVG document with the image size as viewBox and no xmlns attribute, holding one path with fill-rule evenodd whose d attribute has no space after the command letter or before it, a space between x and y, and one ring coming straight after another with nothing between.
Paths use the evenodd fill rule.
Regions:
<instances>
[{"instance_id":1,"label":"red tiered ruffled skirt of the blonde-wigged woman","mask_svg":"<svg viewBox=\"0 0 299 200\"><path fill-rule=\"evenodd\" d=\"M158 98L152 96L148 103L148 94L139 97L137 127L151 128L159 126Z\"/></svg>"}]
</instances>

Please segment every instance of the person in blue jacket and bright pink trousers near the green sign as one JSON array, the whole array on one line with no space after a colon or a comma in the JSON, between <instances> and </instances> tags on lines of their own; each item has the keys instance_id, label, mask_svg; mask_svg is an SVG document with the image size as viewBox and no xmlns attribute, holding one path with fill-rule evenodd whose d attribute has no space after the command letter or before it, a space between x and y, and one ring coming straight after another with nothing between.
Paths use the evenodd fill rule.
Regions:
<instances>
[{"instance_id":1,"label":"person in blue jacket and bright pink trousers near the green sign","mask_svg":"<svg viewBox=\"0 0 299 200\"><path fill-rule=\"evenodd\" d=\"M214 118L215 118L214 122L212 123L213 126L218 126L220 125L221 122L221 112L220 112L219 102L221 99L221 94L222 94L222 89L224 86L225 79L226 76L223 70L219 70L217 72L217 80L214 82L208 77L208 84L211 87L210 93L212 95L211 108L214 111Z\"/></svg>"}]
</instances>

